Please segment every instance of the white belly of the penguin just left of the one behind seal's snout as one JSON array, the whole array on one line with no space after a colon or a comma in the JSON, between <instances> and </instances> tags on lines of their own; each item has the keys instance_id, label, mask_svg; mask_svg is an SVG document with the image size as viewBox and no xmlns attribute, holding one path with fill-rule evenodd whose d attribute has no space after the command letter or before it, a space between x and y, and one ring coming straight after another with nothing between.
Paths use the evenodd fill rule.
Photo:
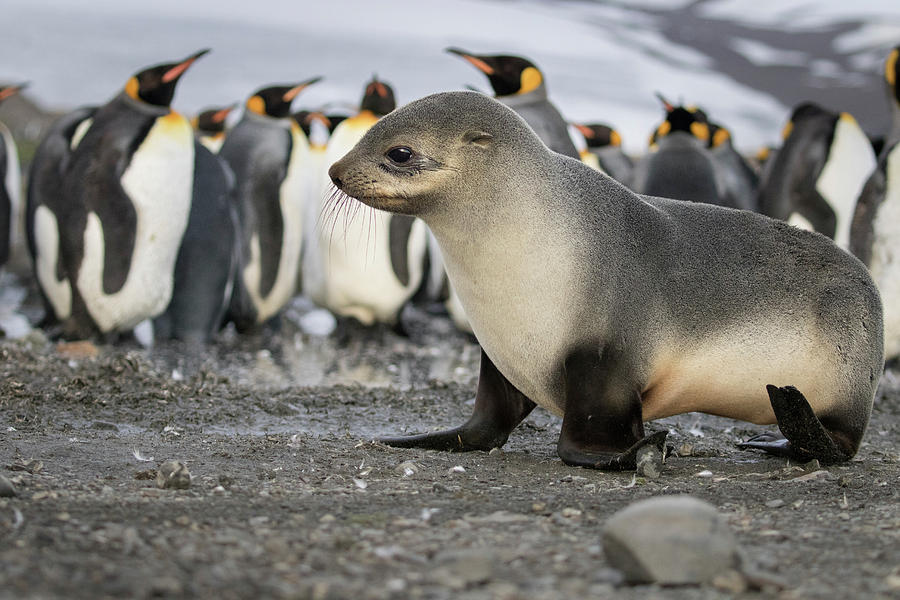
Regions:
<instances>
[{"instance_id":1,"label":"white belly of the penguin just left of the one behind seal's snout","mask_svg":"<svg viewBox=\"0 0 900 600\"><path fill-rule=\"evenodd\" d=\"M300 250L303 243L304 198L307 192L307 163L309 143L297 128L291 128L293 144L288 159L287 173L281 182L278 207L281 211L282 238L278 272L272 289L262 293L262 253L259 244L260 232L250 238L250 260L244 267L244 285L256 308L256 322L262 323L273 317L294 296L297 290L297 276L300 271Z\"/></svg>"}]
</instances>

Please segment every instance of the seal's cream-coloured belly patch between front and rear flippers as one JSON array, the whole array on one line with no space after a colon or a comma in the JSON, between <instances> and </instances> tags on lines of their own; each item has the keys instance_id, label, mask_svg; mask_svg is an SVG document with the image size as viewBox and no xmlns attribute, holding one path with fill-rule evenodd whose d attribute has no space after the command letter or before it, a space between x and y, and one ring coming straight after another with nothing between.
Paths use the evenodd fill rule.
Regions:
<instances>
[{"instance_id":1,"label":"seal's cream-coloured belly patch between front and rear flippers","mask_svg":"<svg viewBox=\"0 0 900 600\"><path fill-rule=\"evenodd\" d=\"M840 400L834 354L803 322L747 324L715 338L667 343L642 393L645 421L704 412L757 424L775 422L766 385L792 385L816 413Z\"/></svg>"}]
</instances>

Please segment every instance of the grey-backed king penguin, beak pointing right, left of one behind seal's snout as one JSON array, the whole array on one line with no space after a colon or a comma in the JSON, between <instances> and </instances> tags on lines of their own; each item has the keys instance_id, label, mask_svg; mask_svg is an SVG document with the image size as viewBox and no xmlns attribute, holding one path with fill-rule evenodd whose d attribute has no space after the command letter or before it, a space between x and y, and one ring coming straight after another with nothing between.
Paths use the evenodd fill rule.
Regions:
<instances>
[{"instance_id":1,"label":"grey-backed king penguin, beak pointing right, left of one behind seal's snout","mask_svg":"<svg viewBox=\"0 0 900 600\"><path fill-rule=\"evenodd\" d=\"M241 260L228 318L239 332L275 317L297 292L309 141L290 111L320 79L257 90L219 151L235 175Z\"/></svg>"}]
</instances>

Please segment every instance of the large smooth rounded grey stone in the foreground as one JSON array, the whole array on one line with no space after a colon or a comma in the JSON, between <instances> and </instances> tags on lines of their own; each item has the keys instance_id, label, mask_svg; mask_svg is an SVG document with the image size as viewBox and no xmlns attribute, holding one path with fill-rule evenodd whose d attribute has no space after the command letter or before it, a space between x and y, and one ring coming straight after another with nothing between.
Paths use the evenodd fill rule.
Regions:
<instances>
[{"instance_id":1,"label":"large smooth rounded grey stone in the foreground","mask_svg":"<svg viewBox=\"0 0 900 600\"><path fill-rule=\"evenodd\" d=\"M704 583L741 563L728 524L691 496L659 496L620 510L603 528L603 549L629 583Z\"/></svg>"}]
</instances>

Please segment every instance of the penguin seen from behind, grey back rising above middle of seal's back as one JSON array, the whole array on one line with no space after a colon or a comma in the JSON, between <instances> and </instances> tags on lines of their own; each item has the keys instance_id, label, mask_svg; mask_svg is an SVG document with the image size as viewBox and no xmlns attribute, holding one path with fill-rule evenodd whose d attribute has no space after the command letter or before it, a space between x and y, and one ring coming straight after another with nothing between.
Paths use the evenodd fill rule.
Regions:
<instances>
[{"instance_id":1,"label":"penguin seen from behind, grey back rising above middle of seal's back","mask_svg":"<svg viewBox=\"0 0 900 600\"><path fill-rule=\"evenodd\" d=\"M634 167L632 189L647 196L731 206L707 148L705 116L659 98L666 118L651 135L649 152Z\"/></svg>"}]
</instances>

